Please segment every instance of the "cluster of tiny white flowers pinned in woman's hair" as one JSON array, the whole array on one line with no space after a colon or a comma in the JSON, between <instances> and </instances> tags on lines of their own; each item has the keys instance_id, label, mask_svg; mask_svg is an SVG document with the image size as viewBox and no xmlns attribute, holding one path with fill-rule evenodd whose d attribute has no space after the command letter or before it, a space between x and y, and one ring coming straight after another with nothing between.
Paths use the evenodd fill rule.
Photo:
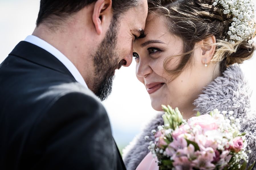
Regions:
<instances>
[{"instance_id":1,"label":"cluster of tiny white flowers pinned in woman's hair","mask_svg":"<svg viewBox=\"0 0 256 170\"><path fill-rule=\"evenodd\" d=\"M215 0L213 5L218 5L224 14L233 18L225 41L235 44L237 41L248 40L249 44L253 43L255 7L252 0Z\"/></svg>"}]
</instances>

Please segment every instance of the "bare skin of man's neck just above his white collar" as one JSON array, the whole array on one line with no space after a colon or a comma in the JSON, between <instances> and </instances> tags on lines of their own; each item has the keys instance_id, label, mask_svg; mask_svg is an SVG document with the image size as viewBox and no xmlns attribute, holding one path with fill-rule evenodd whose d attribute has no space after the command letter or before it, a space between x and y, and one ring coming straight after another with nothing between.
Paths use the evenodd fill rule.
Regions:
<instances>
[{"instance_id":1,"label":"bare skin of man's neck just above his white collar","mask_svg":"<svg viewBox=\"0 0 256 170\"><path fill-rule=\"evenodd\" d=\"M88 46L85 45L84 49L81 49L81 44L77 43L79 42L77 40L78 37L73 37L74 33L60 29L52 31L45 25L36 27L32 35L48 42L64 54L75 65L90 88L90 85L93 84L92 76L94 74L92 73L94 73L94 67L91 59L92 54L90 54L90 51L87 51L91 49L89 43Z\"/></svg>"}]
</instances>

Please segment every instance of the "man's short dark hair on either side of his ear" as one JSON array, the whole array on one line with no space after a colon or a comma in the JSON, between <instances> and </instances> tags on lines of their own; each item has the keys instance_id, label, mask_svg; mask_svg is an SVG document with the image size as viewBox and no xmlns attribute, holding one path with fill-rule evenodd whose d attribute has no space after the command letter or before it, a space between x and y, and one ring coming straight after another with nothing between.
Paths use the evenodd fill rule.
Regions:
<instances>
[{"instance_id":1,"label":"man's short dark hair on either side of his ear","mask_svg":"<svg viewBox=\"0 0 256 170\"><path fill-rule=\"evenodd\" d=\"M85 6L97 0L40 0L40 10L36 25L46 22L51 26L58 25L71 14L78 12ZM113 18L136 6L138 0L112 0Z\"/></svg>"}]
</instances>

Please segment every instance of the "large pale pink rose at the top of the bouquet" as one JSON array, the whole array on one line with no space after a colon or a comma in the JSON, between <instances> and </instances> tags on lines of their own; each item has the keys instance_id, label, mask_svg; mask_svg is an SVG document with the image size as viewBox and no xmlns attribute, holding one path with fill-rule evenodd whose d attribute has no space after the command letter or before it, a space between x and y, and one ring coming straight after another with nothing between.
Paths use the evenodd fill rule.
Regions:
<instances>
[{"instance_id":1,"label":"large pale pink rose at the top of the bouquet","mask_svg":"<svg viewBox=\"0 0 256 170\"><path fill-rule=\"evenodd\" d=\"M209 114L192 117L189 119L188 124L190 126L199 125L204 131L218 129L216 120L214 120L214 118L212 118L212 116Z\"/></svg>"}]
</instances>

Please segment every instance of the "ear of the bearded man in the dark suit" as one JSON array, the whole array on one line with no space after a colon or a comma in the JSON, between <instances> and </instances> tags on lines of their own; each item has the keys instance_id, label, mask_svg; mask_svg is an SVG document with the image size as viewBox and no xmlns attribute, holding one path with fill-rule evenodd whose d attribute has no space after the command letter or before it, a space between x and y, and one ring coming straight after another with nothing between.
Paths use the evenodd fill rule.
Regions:
<instances>
[{"instance_id":1,"label":"ear of the bearded man in the dark suit","mask_svg":"<svg viewBox=\"0 0 256 170\"><path fill-rule=\"evenodd\" d=\"M93 9L93 24L96 32L100 35L103 32L103 24L106 16L112 14L112 0L98 0Z\"/></svg>"}]
</instances>

